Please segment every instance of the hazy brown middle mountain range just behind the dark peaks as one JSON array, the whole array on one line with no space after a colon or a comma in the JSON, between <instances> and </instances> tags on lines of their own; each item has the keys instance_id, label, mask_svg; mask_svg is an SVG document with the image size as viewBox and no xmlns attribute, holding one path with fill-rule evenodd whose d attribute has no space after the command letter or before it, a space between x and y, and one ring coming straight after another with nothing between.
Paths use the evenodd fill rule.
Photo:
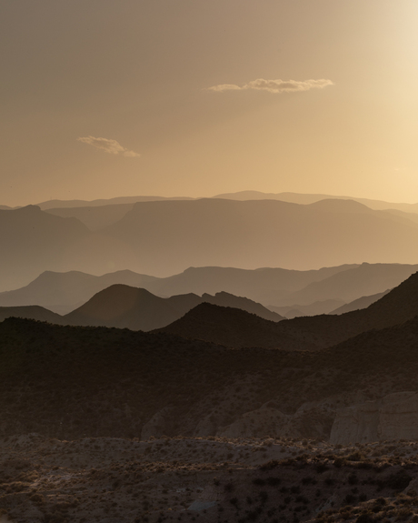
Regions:
<instances>
[{"instance_id":1,"label":"hazy brown middle mountain range just behind the dark peaks","mask_svg":"<svg viewBox=\"0 0 418 523\"><path fill-rule=\"evenodd\" d=\"M78 271L46 271L25 287L0 293L0 307L37 305L65 315L106 287L124 284L142 287L159 297L191 293L214 295L224 291L252 299L285 317L313 316L333 313L347 302L385 292L416 270L418 266L398 264L345 265L310 271L190 267L166 278L129 270L101 277ZM353 309L367 307L372 301L366 303L354 304ZM234 307L232 303L228 305Z\"/></svg>"}]
</instances>

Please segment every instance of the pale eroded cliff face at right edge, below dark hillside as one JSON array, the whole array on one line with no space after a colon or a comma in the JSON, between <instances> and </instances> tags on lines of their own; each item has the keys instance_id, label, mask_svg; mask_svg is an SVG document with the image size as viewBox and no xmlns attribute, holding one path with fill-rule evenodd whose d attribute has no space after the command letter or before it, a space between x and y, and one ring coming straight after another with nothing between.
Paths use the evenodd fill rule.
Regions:
<instances>
[{"instance_id":1,"label":"pale eroded cliff face at right edge, below dark hillside","mask_svg":"<svg viewBox=\"0 0 418 523\"><path fill-rule=\"evenodd\" d=\"M337 410L331 443L347 445L384 439L418 439L418 393L397 392Z\"/></svg>"}]
</instances>

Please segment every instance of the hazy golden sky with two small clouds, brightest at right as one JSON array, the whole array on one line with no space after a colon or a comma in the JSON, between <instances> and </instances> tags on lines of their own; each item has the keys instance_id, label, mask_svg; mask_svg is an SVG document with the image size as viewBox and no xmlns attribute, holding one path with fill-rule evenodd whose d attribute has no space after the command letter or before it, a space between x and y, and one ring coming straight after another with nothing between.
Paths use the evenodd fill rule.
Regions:
<instances>
[{"instance_id":1,"label":"hazy golden sky with two small clouds, brightest at right","mask_svg":"<svg viewBox=\"0 0 418 523\"><path fill-rule=\"evenodd\" d=\"M0 204L418 202L417 0L3 0Z\"/></svg>"}]
</instances>

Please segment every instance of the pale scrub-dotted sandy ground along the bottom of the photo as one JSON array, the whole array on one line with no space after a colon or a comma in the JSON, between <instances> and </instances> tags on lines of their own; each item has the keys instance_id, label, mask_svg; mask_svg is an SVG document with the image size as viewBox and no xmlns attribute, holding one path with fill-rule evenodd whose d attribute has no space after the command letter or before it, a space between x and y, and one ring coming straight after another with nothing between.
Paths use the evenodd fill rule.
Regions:
<instances>
[{"instance_id":1,"label":"pale scrub-dotted sandy ground along the bottom of the photo","mask_svg":"<svg viewBox=\"0 0 418 523\"><path fill-rule=\"evenodd\" d=\"M391 507L411 490L417 452L403 441L6 438L0 522L336 521L343 507L354 521L354 508L382 497ZM341 520L351 520L347 510Z\"/></svg>"}]
</instances>

